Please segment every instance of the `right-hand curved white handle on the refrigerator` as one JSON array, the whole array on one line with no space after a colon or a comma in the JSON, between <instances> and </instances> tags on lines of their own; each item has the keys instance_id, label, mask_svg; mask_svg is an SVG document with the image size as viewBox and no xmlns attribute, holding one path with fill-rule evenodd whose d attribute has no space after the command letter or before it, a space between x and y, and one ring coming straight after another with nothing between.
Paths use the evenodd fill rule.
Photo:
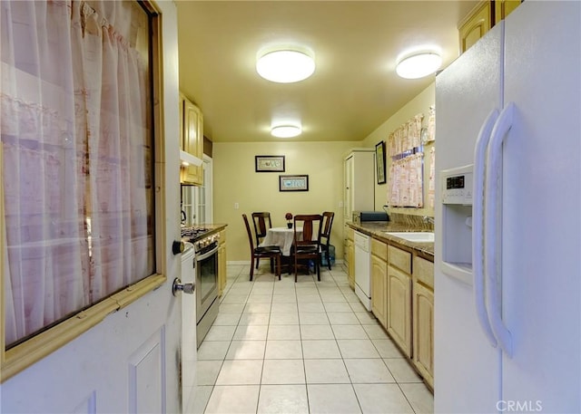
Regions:
<instances>
[{"instance_id":1,"label":"right-hand curved white handle on the refrigerator","mask_svg":"<svg viewBox=\"0 0 581 414\"><path fill-rule=\"evenodd\" d=\"M485 273L487 286L488 319L500 348L512 358L512 335L502 320L502 287L499 277L502 274L499 252L501 251L502 206L502 141L512 127L514 104L508 103L500 112L492 129L488 143L487 175L485 186Z\"/></svg>"}]
</instances>

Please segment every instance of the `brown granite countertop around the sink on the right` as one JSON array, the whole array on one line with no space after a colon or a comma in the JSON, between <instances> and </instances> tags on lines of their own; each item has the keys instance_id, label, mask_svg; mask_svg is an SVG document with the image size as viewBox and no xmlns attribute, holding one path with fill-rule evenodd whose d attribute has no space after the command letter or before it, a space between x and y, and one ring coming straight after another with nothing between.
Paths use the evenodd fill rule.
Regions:
<instances>
[{"instance_id":1,"label":"brown granite countertop around the sink on the right","mask_svg":"<svg viewBox=\"0 0 581 414\"><path fill-rule=\"evenodd\" d=\"M434 243L419 243L410 242L397 236L390 236L385 232L400 232L400 231L429 231L424 227L409 226L408 223L395 223L391 221L366 221L361 224L347 222L347 226L366 234L382 240L386 243L397 243L400 246L406 246L418 251L422 255L428 256L434 260Z\"/></svg>"}]
</instances>

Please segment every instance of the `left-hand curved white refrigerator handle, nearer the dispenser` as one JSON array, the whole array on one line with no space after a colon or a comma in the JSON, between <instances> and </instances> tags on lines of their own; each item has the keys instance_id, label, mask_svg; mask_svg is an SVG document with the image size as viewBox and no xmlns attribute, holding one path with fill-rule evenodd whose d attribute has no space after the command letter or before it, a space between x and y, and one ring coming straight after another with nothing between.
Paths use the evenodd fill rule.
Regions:
<instances>
[{"instance_id":1,"label":"left-hand curved white refrigerator handle, nearer the dispenser","mask_svg":"<svg viewBox=\"0 0 581 414\"><path fill-rule=\"evenodd\" d=\"M478 322L488 342L497 347L497 339L488 322L484 280L484 180L486 174L487 146L492 128L498 118L498 110L490 111L478 132L474 150L474 183L472 203L472 274L474 277L474 299Z\"/></svg>"}]
</instances>

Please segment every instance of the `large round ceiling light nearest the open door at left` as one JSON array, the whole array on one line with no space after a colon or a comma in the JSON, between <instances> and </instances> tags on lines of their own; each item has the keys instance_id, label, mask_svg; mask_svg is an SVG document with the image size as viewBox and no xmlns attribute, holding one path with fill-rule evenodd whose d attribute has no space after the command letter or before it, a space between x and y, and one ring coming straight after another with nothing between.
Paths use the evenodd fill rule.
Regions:
<instances>
[{"instance_id":1,"label":"large round ceiling light nearest the open door at left","mask_svg":"<svg viewBox=\"0 0 581 414\"><path fill-rule=\"evenodd\" d=\"M256 71L271 82L299 82L315 72L315 61L308 54L299 51L274 51L259 57Z\"/></svg>"}]
</instances>

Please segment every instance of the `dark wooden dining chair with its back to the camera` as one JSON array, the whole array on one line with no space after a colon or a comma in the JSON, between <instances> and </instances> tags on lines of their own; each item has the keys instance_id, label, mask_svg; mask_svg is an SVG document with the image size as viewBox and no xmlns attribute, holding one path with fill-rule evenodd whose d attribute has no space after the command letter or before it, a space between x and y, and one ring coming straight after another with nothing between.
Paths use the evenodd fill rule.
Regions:
<instances>
[{"instance_id":1,"label":"dark wooden dining chair with its back to the camera","mask_svg":"<svg viewBox=\"0 0 581 414\"><path fill-rule=\"evenodd\" d=\"M320 281L320 232L322 216L320 214L296 215L294 217L294 238L292 241L292 251L294 259L294 281L298 280L298 269L300 261L309 260L313 262L317 270L317 280ZM302 233L297 231L302 228Z\"/></svg>"}]
</instances>

